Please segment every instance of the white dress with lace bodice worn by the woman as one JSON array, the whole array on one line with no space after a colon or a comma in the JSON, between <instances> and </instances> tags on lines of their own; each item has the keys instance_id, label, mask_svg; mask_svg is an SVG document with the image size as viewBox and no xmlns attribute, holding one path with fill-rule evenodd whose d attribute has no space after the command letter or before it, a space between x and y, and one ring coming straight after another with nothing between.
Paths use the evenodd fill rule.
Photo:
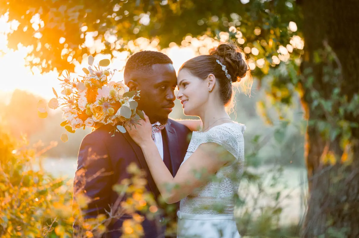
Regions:
<instances>
[{"instance_id":1,"label":"white dress with lace bodice worn by the woman","mask_svg":"<svg viewBox=\"0 0 359 238\"><path fill-rule=\"evenodd\" d=\"M218 170L212 181L181 200L180 211L177 213L178 238L240 237L233 217L233 196L238 192L238 183L234 183L231 178L238 177L243 172L244 130L246 127L243 124L229 122L214 126L206 132L192 133L182 164L200 144L208 142L221 145L236 160L233 164Z\"/></svg>"}]
</instances>

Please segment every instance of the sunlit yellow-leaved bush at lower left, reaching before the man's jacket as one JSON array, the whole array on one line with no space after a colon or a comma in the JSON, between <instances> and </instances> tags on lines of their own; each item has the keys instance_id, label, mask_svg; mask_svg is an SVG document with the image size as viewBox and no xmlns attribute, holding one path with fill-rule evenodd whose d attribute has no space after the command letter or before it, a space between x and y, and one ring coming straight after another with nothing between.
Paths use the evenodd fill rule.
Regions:
<instances>
[{"instance_id":1,"label":"sunlit yellow-leaved bush at lower left, reaching before the man's jacket","mask_svg":"<svg viewBox=\"0 0 359 238\"><path fill-rule=\"evenodd\" d=\"M0 125L0 237L73 237L74 222L79 224L76 236L99 237L112 219L127 214L132 219L123 223L122 237L137 238L144 233L143 215L158 218L155 200L145 189L144 173L132 164L127 168L132 178L113 186L121 196L108 214L85 220L81 208L90 199L76 194L73 201L73 181L42 169L39 158L53 146L37 144L28 149L25 139L15 140Z\"/></svg>"}]
</instances>

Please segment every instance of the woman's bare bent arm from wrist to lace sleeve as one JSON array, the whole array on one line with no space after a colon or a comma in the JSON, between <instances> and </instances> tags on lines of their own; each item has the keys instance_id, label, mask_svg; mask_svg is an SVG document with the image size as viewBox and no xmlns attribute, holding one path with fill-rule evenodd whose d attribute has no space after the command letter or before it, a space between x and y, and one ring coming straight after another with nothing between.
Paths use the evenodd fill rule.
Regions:
<instances>
[{"instance_id":1,"label":"woman's bare bent arm from wrist to lace sleeve","mask_svg":"<svg viewBox=\"0 0 359 238\"><path fill-rule=\"evenodd\" d=\"M166 203L176 203L208 183L211 176L235 158L215 143L201 144L181 165L176 176L163 163L153 140L140 144L160 194Z\"/></svg>"}]
</instances>

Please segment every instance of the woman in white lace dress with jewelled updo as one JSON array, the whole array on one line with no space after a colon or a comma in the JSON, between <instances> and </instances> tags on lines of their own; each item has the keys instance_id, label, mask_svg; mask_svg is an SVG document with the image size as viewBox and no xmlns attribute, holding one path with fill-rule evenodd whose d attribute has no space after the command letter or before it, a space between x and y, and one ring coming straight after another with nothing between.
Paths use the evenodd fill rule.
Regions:
<instances>
[{"instance_id":1,"label":"woman in white lace dress with jewelled updo","mask_svg":"<svg viewBox=\"0 0 359 238\"><path fill-rule=\"evenodd\" d=\"M192 58L181 66L177 98L185 115L201 120L179 121L193 132L174 177L152 140L148 117L137 129L128 130L141 147L164 200L168 204L180 201L177 237L240 237L233 216L238 184L232 178L242 173L246 127L233 122L225 106L233 99L232 83L241 81L247 70L241 50L230 43L212 48L208 55ZM251 84L248 85L250 90ZM203 129L196 131L200 124Z\"/></svg>"}]
</instances>

